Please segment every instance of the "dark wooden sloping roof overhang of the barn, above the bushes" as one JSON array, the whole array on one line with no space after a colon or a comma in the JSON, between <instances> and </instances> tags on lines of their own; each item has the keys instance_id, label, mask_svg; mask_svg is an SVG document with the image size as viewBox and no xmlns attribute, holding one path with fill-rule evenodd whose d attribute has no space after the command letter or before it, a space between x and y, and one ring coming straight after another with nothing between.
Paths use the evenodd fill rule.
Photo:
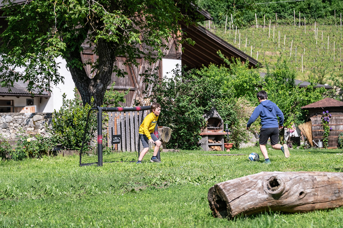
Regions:
<instances>
[{"instance_id":1,"label":"dark wooden sloping roof overhang of the barn, above the bushes","mask_svg":"<svg viewBox=\"0 0 343 228\"><path fill-rule=\"evenodd\" d=\"M186 26L181 24L181 29L184 32L182 38L191 38L196 43L195 45L189 45L186 42L182 44L184 52L182 53L181 63L186 65L187 69L201 68L202 65L209 65L210 63L223 64L223 59L217 54L218 50L227 58L234 57L242 62L249 61L249 67L251 68L262 66L256 59L230 45L200 25Z\"/></svg>"}]
</instances>

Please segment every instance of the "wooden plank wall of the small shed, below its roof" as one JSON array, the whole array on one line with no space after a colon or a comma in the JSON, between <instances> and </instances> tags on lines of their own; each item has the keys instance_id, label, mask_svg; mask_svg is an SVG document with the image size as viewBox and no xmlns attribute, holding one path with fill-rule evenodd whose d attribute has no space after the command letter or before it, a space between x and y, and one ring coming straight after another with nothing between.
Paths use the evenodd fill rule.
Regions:
<instances>
[{"instance_id":1,"label":"wooden plank wall of the small shed, below its roof","mask_svg":"<svg viewBox=\"0 0 343 228\"><path fill-rule=\"evenodd\" d=\"M312 137L317 143L323 139L323 127L321 125L321 117L323 111L329 111L331 114L329 127L332 128L329 135L328 147L338 147L338 135L343 132L343 107L331 109L312 109L309 110L308 116L312 121Z\"/></svg>"}]
</instances>

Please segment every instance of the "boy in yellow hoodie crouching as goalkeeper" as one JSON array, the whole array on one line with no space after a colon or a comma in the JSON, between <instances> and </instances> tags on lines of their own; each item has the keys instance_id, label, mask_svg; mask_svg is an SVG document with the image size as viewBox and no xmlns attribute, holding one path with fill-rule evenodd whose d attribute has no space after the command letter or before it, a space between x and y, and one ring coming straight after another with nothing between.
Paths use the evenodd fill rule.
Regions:
<instances>
[{"instance_id":1,"label":"boy in yellow hoodie crouching as goalkeeper","mask_svg":"<svg viewBox=\"0 0 343 228\"><path fill-rule=\"evenodd\" d=\"M159 113L161 113L161 105L154 102L151 105L151 113L144 118L143 123L139 127L139 138L142 141L144 149L139 155L139 158L136 164L142 163L142 159L144 155L149 150L149 143L156 144L155 149L154 149L154 154L152 158L150 159L150 161L157 162L157 163L161 162L160 160L157 159L157 152L159 150L159 147L161 146L161 141L159 141L156 135L153 133L155 130L155 126L157 124Z\"/></svg>"}]
</instances>

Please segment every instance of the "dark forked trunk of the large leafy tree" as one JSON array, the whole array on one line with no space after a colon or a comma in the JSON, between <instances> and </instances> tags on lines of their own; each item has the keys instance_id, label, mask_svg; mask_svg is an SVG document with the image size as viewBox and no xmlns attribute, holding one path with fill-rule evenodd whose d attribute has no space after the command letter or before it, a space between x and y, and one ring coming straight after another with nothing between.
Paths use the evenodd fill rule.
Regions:
<instances>
[{"instance_id":1,"label":"dark forked trunk of the large leafy tree","mask_svg":"<svg viewBox=\"0 0 343 228\"><path fill-rule=\"evenodd\" d=\"M80 92L83 105L102 106L107 86L111 83L111 76L116 61L114 45L109 42L99 40L97 43L97 54L99 56L96 65L96 74L93 78L88 77L84 65L80 68L77 66L69 67L70 74L76 88ZM82 63L79 50L70 52L67 58L70 62ZM68 61L67 61L68 62ZM94 103L91 104L91 98Z\"/></svg>"}]
</instances>

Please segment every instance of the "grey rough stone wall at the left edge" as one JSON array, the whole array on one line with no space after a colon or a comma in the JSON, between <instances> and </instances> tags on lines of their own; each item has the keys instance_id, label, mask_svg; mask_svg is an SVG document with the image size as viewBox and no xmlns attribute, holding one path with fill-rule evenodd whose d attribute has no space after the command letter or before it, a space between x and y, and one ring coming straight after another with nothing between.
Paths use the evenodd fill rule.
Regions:
<instances>
[{"instance_id":1,"label":"grey rough stone wall at the left edge","mask_svg":"<svg viewBox=\"0 0 343 228\"><path fill-rule=\"evenodd\" d=\"M0 113L0 134L8 140L15 140L21 132L23 135L43 134L46 124L51 126L51 115L51 112Z\"/></svg>"}]
</instances>

